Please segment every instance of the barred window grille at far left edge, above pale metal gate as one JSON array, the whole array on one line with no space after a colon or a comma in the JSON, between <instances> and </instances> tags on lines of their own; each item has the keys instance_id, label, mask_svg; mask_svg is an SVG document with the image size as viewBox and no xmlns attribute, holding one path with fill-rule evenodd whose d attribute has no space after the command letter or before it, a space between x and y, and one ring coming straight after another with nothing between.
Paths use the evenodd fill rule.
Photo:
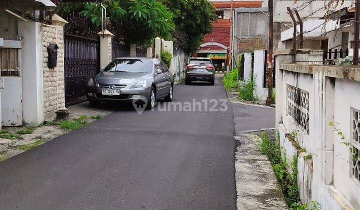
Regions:
<instances>
[{"instance_id":1,"label":"barred window grille at far left edge, above pale metal gate","mask_svg":"<svg viewBox=\"0 0 360 210\"><path fill-rule=\"evenodd\" d=\"M0 48L0 73L1 76L19 76L19 49Z\"/></svg>"}]
</instances>

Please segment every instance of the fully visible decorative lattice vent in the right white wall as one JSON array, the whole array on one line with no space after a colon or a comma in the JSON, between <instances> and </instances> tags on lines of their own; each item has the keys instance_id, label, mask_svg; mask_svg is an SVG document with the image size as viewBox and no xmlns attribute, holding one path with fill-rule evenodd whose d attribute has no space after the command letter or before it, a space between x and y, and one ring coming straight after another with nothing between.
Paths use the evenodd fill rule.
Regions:
<instances>
[{"instance_id":1,"label":"fully visible decorative lattice vent in the right white wall","mask_svg":"<svg viewBox=\"0 0 360 210\"><path fill-rule=\"evenodd\" d=\"M287 84L287 115L309 134L309 94Z\"/></svg>"}]
</instances>

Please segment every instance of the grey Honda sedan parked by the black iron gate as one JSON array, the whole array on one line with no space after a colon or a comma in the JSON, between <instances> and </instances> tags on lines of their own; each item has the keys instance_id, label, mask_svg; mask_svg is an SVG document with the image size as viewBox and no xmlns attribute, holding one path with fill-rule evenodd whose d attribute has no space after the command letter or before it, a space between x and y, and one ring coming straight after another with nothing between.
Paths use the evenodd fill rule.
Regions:
<instances>
[{"instance_id":1,"label":"grey Honda sedan parked by the black iron gate","mask_svg":"<svg viewBox=\"0 0 360 210\"><path fill-rule=\"evenodd\" d=\"M145 98L151 109L158 98L171 101L173 75L164 62L148 57L119 57L87 82L86 97L90 105L101 101L132 101Z\"/></svg>"}]
</instances>

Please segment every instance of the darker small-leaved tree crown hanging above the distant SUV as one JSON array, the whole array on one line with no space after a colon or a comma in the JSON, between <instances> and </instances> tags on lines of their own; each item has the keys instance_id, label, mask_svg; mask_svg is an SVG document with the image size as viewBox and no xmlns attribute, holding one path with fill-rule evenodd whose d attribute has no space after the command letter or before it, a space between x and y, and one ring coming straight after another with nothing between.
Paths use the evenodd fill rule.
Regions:
<instances>
[{"instance_id":1,"label":"darker small-leaved tree crown hanging above the distant SUV","mask_svg":"<svg viewBox=\"0 0 360 210\"><path fill-rule=\"evenodd\" d=\"M161 0L174 13L174 42L187 52L202 43L203 36L212 31L217 19L215 8L207 0Z\"/></svg>"}]
</instances>

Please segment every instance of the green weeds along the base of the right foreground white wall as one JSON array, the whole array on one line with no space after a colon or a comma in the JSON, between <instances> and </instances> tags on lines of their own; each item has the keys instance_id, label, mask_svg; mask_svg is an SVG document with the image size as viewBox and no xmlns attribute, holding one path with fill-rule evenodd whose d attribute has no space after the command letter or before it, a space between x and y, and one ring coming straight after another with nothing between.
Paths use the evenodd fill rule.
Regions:
<instances>
[{"instance_id":1,"label":"green weeds along the base of the right foreground white wall","mask_svg":"<svg viewBox=\"0 0 360 210\"><path fill-rule=\"evenodd\" d=\"M261 139L257 140L257 148L262 154L266 154L271 162L277 180L280 182L282 193L288 206L300 202L299 188L297 185L297 157L292 156L289 167L291 172L286 170L286 159L281 158L279 146L279 134L270 140L266 132L262 132Z\"/></svg>"}]
</instances>

